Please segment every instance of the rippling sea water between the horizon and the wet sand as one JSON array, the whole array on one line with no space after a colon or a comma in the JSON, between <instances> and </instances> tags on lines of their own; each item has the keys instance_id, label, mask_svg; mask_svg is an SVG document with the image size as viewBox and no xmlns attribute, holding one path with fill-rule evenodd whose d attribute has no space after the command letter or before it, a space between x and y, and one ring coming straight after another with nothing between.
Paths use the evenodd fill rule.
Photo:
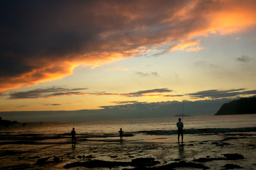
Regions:
<instances>
[{"instance_id":1,"label":"rippling sea water between the horizon and the wet sand","mask_svg":"<svg viewBox=\"0 0 256 170\"><path fill-rule=\"evenodd\" d=\"M150 118L123 120L90 120L62 122L28 122L1 127L1 141L13 140L52 140L64 142L70 138L75 128L76 138L90 140L116 139L120 128L126 140L141 138L154 139L159 135L175 135L178 118ZM256 114L183 117L185 134L216 132L255 131ZM147 137L145 137L147 136ZM151 137L150 137L151 136ZM49 142L49 141L48 141Z\"/></svg>"}]
</instances>

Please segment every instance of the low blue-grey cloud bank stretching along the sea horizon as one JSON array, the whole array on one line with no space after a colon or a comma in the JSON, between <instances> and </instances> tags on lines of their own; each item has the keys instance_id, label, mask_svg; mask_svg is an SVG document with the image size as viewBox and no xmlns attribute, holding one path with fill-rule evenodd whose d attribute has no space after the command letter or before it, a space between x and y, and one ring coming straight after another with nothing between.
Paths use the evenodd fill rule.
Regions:
<instances>
[{"instance_id":1,"label":"low blue-grey cloud bank stretching along the sea horizon","mask_svg":"<svg viewBox=\"0 0 256 170\"><path fill-rule=\"evenodd\" d=\"M240 99L237 97L234 99ZM219 108L234 99L184 100L184 114L190 116L208 116L217 113ZM136 101L113 102L118 105L100 106L101 109L74 111L8 111L0 112L3 119L15 118L18 122L35 121L71 121L77 120L106 120L106 119L138 119L174 117L182 114L182 101L162 101L143 103ZM49 104L52 105L52 104Z\"/></svg>"}]
</instances>

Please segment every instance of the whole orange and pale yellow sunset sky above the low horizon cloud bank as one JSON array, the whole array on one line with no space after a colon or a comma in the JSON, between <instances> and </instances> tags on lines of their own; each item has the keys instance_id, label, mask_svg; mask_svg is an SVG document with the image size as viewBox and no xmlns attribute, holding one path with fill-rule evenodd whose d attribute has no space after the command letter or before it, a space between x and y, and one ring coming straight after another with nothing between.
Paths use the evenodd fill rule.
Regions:
<instances>
[{"instance_id":1,"label":"whole orange and pale yellow sunset sky above the low horizon cloud bank","mask_svg":"<svg viewBox=\"0 0 256 170\"><path fill-rule=\"evenodd\" d=\"M254 0L1 1L0 111L255 96L255 8Z\"/></svg>"}]
</instances>

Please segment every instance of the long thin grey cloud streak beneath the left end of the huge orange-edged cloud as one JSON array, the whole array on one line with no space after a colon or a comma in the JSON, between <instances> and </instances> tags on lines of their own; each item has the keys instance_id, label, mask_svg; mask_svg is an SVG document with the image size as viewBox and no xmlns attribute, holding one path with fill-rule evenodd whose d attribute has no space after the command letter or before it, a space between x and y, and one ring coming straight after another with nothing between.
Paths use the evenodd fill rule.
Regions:
<instances>
[{"instance_id":1,"label":"long thin grey cloud streak beneath the left end of the huge orange-edged cloud","mask_svg":"<svg viewBox=\"0 0 256 170\"><path fill-rule=\"evenodd\" d=\"M8 99L33 99L33 98L50 98L58 96L84 95L86 93L78 92L77 90L86 90L88 88L62 88L62 87L48 87L29 90L26 92L11 92Z\"/></svg>"}]
</instances>

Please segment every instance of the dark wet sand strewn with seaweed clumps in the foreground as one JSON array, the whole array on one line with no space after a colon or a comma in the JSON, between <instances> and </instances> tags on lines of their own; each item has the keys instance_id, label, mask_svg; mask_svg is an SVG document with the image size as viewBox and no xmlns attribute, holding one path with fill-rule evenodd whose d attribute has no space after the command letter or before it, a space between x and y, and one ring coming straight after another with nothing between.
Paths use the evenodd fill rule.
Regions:
<instances>
[{"instance_id":1,"label":"dark wet sand strewn with seaweed clumps in the foreground","mask_svg":"<svg viewBox=\"0 0 256 170\"><path fill-rule=\"evenodd\" d=\"M154 161L160 162L157 164L145 163L146 167L152 169L181 161L201 164L209 169L225 169L221 166L226 164L238 165L243 169L256 169L255 138L256 132L232 132L206 135L188 134L184 135L183 144L176 142L177 135L159 135L154 138L144 135L141 140L124 137L123 141L120 141L119 137L80 138L77 139L76 144L72 144L71 139L2 142L0 169L67 169L64 167L67 164L93 160L121 161L126 162L126 165L116 163L114 167L104 167L105 165L98 163L97 167L95 165L94 167L75 166L68 169L136 169L134 164L127 162L141 157L154 158ZM232 160L223 155L236 153L244 158L236 156L239 159ZM89 155L92 157L86 157ZM41 158L45 158L45 160ZM174 169L204 169L182 167L182 165L185 166L184 162L180 164ZM143 168L139 167L139 169Z\"/></svg>"}]
</instances>

